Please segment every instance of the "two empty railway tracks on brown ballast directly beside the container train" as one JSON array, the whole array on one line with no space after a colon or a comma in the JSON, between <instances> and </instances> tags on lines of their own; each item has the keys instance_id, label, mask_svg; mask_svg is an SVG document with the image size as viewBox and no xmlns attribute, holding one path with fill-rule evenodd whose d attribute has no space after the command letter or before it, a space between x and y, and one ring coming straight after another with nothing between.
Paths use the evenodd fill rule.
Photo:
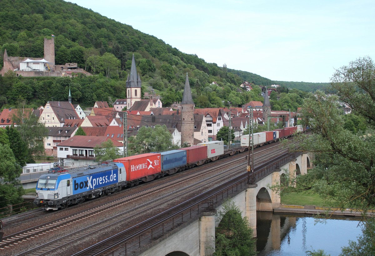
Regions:
<instances>
[{"instance_id":1,"label":"two empty railway tracks on brown ballast directly beside the container train","mask_svg":"<svg viewBox=\"0 0 375 256\"><path fill-rule=\"evenodd\" d=\"M271 145L270 147L274 148L275 145ZM268 151L268 153L266 153ZM255 159L260 158L267 158L267 155L273 155L276 153L276 151L280 151L280 149L272 149L270 150L269 147L265 146L263 148L259 148L257 152L255 152ZM234 157L231 157L229 161L225 161L225 164L222 164L220 166L220 169L224 169L225 166L231 166L232 168L225 170L221 172L220 174L216 174L214 178L207 178L207 179L202 179L199 182L196 182L195 185L188 188L182 188L181 190L178 191L183 191L181 192L182 194L188 194L191 193L192 191L196 190L199 186L201 186L202 183L212 183L212 182L224 182L224 179L227 179L228 177L228 172L231 173L231 175L234 175L235 173L243 173L243 170L246 166L246 161L243 158L245 154L248 154L247 152L241 153L238 155L235 155ZM237 164L237 166L233 167L235 163L239 163L239 160L242 159L244 163L242 164ZM69 226L71 224L77 223L79 221L86 220L88 218L93 218L97 215L103 214L105 212L111 211L114 208L121 207L127 203L132 202L133 200L142 200L142 198L149 196L150 194L160 194L162 191L166 191L171 189L174 186L179 186L183 183L186 183L190 179L196 179L199 178L200 176L204 175L209 175L210 172L214 172L216 167L209 167L209 168L202 168L201 170L197 170L196 172L192 172L189 175L186 175L181 178L174 179L173 181L166 182L165 184L162 185L157 185L155 187L147 188L145 190L142 190L138 193L113 200L111 202L105 203L104 205L101 206L96 206L94 208L87 209L85 211L78 212L74 215L71 215L69 217L64 217L60 218L54 221L51 221L49 223L45 223L43 225L35 226L31 229L23 230L23 232L17 232L13 233L12 235L8 235L4 238L3 242L0 243L0 249L6 250L10 246L15 246L18 244L21 244L22 242L29 241L34 238L38 238L40 236L46 235L50 232L54 232L58 229L62 229L63 227ZM236 169L236 170L235 170ZM194 169L195 170L195 169ZM211 179L211 180L208 180ZM174 193L175 194L175 193ZM182 195L180 194L180 196ZM33 250L26 251L24 253L21 253L19 255L48 255L50 254L53 250L56 250L56 248L62 248L63 246L66 246L68 244L72 244L73 242L77 242L78 240L84 239L87 236L92 235L93 233L97 233L100 230L107 229L109 226L114 225L114 223L120 223L124 220L129 220L131 218L134 218L134 216L139 215L140 212L144 211L149 211L150 209L154 209L156 207L159 207L161 203L163 202L168 202L171 200L176 200L178 196L171 197L169 195L169 198L167 196L165 197L160 197L155 199L157 202L156 205L154 203L148 202L148 205L152 205L150 208L144 209L146 207L145 205L141 205L137 208L132 208L129 211L123 212L119 215L116 215L114 217L108 218L104 221L101 221L99 223L95 223L89 227L86 227L83 229L80 229L77 232L70 233L66 237L58 238L58 241L51 241L46 244L40 245ZM160 203L161 201L161 203ZM139 209L139 210L138 210ZM131 214L133 212L133 214ZM135 215L134 215L134 212ZM132 217L133 216L133 217ZM24 220L26 221L26 220ZM15 225L15 224L14 224ZM1 250L0 250L1 251Z\"/></svg>"}]
</instances>

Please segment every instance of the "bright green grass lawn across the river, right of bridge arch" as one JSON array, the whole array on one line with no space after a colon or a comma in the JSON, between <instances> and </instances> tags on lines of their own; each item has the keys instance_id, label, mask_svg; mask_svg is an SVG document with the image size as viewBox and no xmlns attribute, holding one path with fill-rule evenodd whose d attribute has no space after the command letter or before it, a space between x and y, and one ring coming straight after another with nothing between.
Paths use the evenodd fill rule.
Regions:
<instances>
[{"instance_id":1,"label":"bright green grass lawn across the river, right of bridge arch","mask_svg":"<svg viewBox=\"0 0 375 256\"><path fill-rule=\"evenodd\" d=\"M327 206L325 201L319 197L318 194L307 190L302 192L292 192L284 194L281 197L281 204L283 205L315 205L315 206Z\"/></svg>"}]
</instances>

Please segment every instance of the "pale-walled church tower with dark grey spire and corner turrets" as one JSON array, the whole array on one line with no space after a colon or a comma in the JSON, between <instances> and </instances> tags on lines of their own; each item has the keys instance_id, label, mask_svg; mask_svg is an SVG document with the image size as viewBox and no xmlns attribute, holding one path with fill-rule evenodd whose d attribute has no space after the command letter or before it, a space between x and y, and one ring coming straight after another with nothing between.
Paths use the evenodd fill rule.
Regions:
<instances>
[{"instance_id":1,"label":"pale-walled church tower with dark grey spire and corner turrets","mask_svg":"<svg viewBox=\"0 0 375 256\"><path fill-rule=\"evenodd\" d=\"M135 67L134 54L132 59L132 66L130 68L130 75L127 75L126 80L126 109L130 110L134 102L141 100L141 77L137 76L137 68Z\"/></svg>"}]
</instances>

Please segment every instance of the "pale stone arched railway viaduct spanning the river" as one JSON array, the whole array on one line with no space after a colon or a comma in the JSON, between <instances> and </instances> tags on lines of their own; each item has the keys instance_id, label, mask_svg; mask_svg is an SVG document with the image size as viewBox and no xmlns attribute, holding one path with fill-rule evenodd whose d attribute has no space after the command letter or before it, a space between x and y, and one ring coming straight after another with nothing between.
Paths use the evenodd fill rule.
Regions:
<instances>
[{"instance_id":1,"label":"pale stone arched railway viaduct spanning the river","mask_svg":"<svg viewBox=\"0 0 375 256\"><path fill-rule=\"evenodd\" d=\"M190 221L183 222L184 215L182 214L180 226L153 239L152 242L144 245L138 254L144 256L212 255L215 250L215 227L219 225L215 214L216 211L223 209L224 197L231 197L231 200L242 211L242 215L248 217L249 226L253 228L254 236L256 236L257 210L271 212L280 207L279 194L272 191L269 186L280 184L280 177L287 173L293 176L306 174L312 166L313 157L314 155L306 152L288 155L279 164L267 167L268 169L255 170L255 182L237 184L235 188L222 191L219 196L216 194L216 200L215 197L211 197L206 205L202 203L200 213ZM177 219L175 221L178 225Z\"/></svg>"}]
</instances>

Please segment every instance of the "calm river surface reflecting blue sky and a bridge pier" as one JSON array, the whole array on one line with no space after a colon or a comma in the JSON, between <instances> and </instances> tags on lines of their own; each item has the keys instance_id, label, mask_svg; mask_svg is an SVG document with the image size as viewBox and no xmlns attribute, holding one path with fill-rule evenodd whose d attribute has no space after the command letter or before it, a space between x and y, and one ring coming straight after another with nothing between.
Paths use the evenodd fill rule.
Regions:
<instances>
[{"instance_id":1,"label":"calm river surface reflecting blue sky and a bridge pier","mask_svg":"<svg viewBox=\"0 0 375 256\"><path fill-rule=\"evenodd\" d=\"M257 211L258 255L300 256L313 249L338 255L348 240L357 240L361 235L359 220L339 217L315 224L312 215Z\"/></svg>"}]
</instances>

